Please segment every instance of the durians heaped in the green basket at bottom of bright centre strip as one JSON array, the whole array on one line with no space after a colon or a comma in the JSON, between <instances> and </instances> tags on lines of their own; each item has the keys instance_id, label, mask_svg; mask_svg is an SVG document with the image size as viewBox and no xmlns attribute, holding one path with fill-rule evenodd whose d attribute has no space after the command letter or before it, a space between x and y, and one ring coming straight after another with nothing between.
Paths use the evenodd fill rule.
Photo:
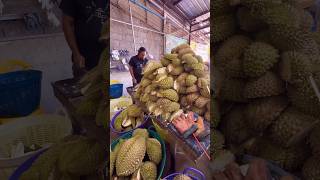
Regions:
<instances>
[{"instance_id":1,"label":"durians heaped in the green basket at bottom of bright centre strip","mask_svg":"<svg viewBox=\"0 0 320 180\"><path fill-rule=\"evenodd\" d=\"M162 161L161 143L149 137L146 129L136 129L129 139L120 139L110 149L112 179L155 180Z\"/></svg>"}]
</instances>

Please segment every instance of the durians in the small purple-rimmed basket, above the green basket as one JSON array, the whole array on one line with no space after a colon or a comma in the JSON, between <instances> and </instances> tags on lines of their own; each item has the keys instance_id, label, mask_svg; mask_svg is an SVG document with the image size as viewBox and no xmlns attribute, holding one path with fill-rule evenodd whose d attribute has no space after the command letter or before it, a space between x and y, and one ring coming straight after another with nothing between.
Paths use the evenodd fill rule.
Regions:
<instances>
[{"instance_id":1,"label":"durians in the small purple-rimmed basket, above the green basket","mask_svg":"<svg viewBox=\"0 0 320 180\"><path fill-rule=\"evenodd\" d=\"M114 128L119 132L130 131L144 122L144 113L137 105L130 105L115 119Z\"/></svg>"}]
</instances>

